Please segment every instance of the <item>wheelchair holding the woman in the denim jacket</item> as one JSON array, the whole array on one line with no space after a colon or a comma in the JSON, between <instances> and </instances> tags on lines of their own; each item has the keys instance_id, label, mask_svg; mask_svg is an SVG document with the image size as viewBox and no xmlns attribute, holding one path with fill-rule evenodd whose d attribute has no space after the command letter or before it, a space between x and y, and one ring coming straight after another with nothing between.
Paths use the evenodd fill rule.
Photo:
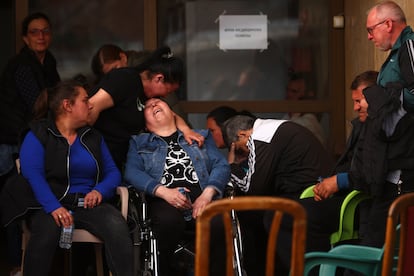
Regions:
<instances>
[{"instance_id":1,"label":"wheelchair holding the woman in the denim jacket","mask_svg":"<svg viewBox=\"0 0 414 276\"><path fill-rule=\"evenodd\" d=\"M134 248L134 275L136 276L160 276L158 259L158 241L151 228L151 219L147 213L147 202L144 192L139 192L133 187L128 187L129 210L128 223ZM229 183L225 189L225 196L233 198L235 189ZM233 229L233 269L235 276L246 276L243 268L243 243L240 223L236 212L231 212ZM184 239L177 245L174 255L181 270L185 275L191 275L194 268L194 232L188 231ZM181 271L180 270L180 271Z\"/></svg>"}]
</instances>

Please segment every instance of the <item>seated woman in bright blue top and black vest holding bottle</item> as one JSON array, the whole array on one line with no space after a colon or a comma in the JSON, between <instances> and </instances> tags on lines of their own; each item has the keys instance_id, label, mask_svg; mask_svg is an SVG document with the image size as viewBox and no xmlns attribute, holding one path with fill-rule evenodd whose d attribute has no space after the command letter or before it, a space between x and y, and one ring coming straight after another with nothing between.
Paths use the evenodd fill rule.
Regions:
<instances>
[{"instance_id":1,"label":"seated woman in bright blue top and black vest holding bottle","mask_svg":"<svg viewBox=\"0 0 414 276\"><path fill-rule=\"evenodd\" d=\"M105 202L115 195L121 174L101 135L87 125L91 108L85 89L74 81L45 90L36 102L36 119L20 150L30 193L22 191L15 204L31 210L25 276L48 275L61 227L73 224L103 240L112 275L133 275L128 226Z\"/></svg>"}]
</instances>

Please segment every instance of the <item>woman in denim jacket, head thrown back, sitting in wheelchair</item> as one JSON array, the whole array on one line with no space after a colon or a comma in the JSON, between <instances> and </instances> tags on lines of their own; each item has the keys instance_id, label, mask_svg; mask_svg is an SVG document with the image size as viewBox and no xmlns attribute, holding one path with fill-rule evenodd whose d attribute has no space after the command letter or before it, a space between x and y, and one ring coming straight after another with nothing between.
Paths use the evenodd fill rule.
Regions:
<instances>
[{"instance_id":1,"label":"woman in denim jacket, head thrown back, sitting in wheelchair","mask_svg":"<svg viewBox=\"0 0 414 276\"><path fill-rule=\"evenodd\" d=\"M176 127L173 112L162 100L147 101L145 119L149 133L131 138L125 181L147 195L149 217L159 245L160 275L173 275L174 249L188 224L184 211L192 209L192 217L196 218L207 204L221 197L230 179L230 167L208 131L198 131L205 137L204 145L189 145ZM184 188L189 198L180 188ZM221 219L212 227L211 250L215 260L211 262L211 272L223 275Z\"/></svg>"}]
</instances>

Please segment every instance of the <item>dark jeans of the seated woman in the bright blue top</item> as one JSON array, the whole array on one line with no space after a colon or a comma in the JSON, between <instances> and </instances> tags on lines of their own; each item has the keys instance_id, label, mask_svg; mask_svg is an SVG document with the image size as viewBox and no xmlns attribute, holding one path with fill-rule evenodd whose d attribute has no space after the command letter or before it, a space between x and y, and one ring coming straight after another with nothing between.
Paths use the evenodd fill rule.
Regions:
<instances>
[{"instance_id":1,"label":"dark jeans of the seated woman in the bright blue top","mask_svg":"<svg viewBox=\"0 0 414 276\"><path fill-rule=\"evenodd\" d=\"M132 276L132 242L119 210L102 203L92 209L76 208L73 216L76 228L86 229L104 241L106 260L112 274ZM35 211L27 222L30 240L24 258L25 276L48 275L61 229L43 210Z\"/></svg>"}]
</instances>

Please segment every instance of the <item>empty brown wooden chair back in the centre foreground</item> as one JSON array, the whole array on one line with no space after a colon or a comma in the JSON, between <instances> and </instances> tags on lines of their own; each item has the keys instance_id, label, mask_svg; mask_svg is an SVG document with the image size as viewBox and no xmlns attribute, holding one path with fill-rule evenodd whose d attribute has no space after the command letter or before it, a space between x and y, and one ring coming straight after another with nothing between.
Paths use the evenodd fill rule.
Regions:
<instances>
[{"instance_id":1,"label":"empty brown wooden chair back in the centre foreground","mask_svg":"<svg viewBox=\"0 0 414 276\"><path fill-rule=\"evenodd\" d=\"M231 229L231 210L273 210L272 225L269 232L266 275L274 274L274 259L276 255L276 241L280 229L280 223L284 214L293 218L291 276L302 276L304 254L306 244L306 211L296 201L278 197L243 196L233 199L221 199L207 205L203 213L196 220L196 257L195 275L209 275L210 255L210 221L221 214L224 220L226 235L226 275L234 275L233 272L233 244Z\"/></svg>"}]
</instances>

